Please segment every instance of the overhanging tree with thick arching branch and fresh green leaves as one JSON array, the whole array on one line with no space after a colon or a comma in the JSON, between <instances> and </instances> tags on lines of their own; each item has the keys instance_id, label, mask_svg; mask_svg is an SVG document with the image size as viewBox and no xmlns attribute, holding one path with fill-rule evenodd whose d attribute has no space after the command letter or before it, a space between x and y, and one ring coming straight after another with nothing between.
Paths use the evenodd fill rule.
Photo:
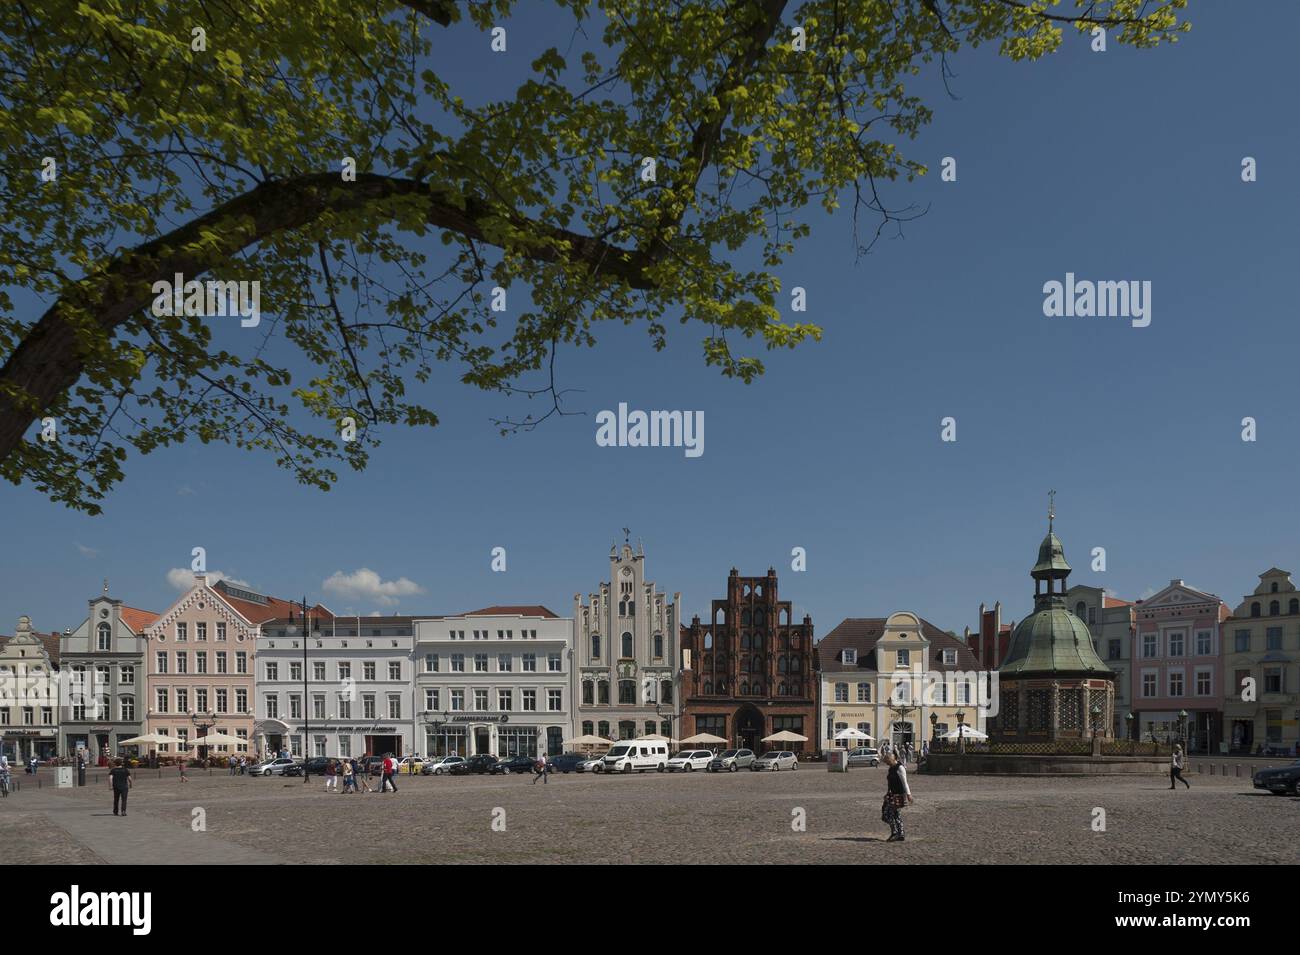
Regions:
<instances>
[{"instance_id":1,"label":"overhanging tree with thick arching branch and fresh green leaves","mask_svg":"<svg viewBox=\"0 0 1300 955\"><path fill-rule=\"evenodd\" d=\"M1069 30L1154 47L1184 5L551 0L578 42L484 101L439 47L499 69L512 0L3 4L0 474L95 513L130 450L198 438L328 489L382 426L437 424L439 369L556 409L556 351L611 321L698 326L750 381L820 335L777 308L810 213L852 205L863 248L909 214L880 186L924 172L911 78ZM177 274L260 283L247 346L157 313Z\"/></svg>"}]
</instances>

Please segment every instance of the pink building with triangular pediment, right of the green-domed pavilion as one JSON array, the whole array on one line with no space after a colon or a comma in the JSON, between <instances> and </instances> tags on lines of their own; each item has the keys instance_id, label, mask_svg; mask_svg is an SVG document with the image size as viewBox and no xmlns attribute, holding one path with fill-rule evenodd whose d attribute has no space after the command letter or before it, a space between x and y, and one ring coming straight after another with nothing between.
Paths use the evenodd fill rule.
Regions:
<instances>
[{"instance_id":1,"label":"pink building with triangular pediment, right of the green-domed pavilion","mask_svg":"<svg viewBox=\"0 0 1300 955\"><path fill-rule=\"evenodd\" d=\"M1214 594L1170 581L1134 605L1131 712L1134 735L1180 737L1187 712L1190 752L1218 752L1223 743L1223 641L1227 605Z\"/></svg>"}]
</instances>

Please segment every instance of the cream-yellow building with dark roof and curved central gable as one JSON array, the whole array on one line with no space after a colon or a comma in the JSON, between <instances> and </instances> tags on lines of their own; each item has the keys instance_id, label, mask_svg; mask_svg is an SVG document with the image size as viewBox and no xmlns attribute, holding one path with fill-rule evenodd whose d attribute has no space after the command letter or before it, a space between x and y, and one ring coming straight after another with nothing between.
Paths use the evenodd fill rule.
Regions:
<instances>
[{"instance_id":1,"label":"cream-yellow building with dark roof and curved central gable","mask_svg":"<svg viewBox=\"0 0 1300 955\"><path fill-rule=\"evenodd\" d=\"M835 738L845 729L918 751L958 722L984 732L975 654L915 613L850 617L822 638L818 660L822 750L852 748Z\"/></svg>"}]
</instances>

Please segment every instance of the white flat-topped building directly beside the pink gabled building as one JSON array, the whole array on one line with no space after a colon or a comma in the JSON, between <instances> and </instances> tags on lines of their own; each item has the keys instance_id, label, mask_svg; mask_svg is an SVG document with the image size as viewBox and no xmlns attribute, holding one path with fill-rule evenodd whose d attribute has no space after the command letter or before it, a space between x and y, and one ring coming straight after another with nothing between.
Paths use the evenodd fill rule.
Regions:
<instances>
[{"instance_id":1,"label":"white flat-topped building directly beside the pink gabled building","mask_svg":"<svg viewBox=\"0 0 1300 955\"><path fill-rule=\"evenodd\" d=\"M291 756L420 752L412 617L269 620L257 637L257 747Z\"/></svg>"}]
</instances>

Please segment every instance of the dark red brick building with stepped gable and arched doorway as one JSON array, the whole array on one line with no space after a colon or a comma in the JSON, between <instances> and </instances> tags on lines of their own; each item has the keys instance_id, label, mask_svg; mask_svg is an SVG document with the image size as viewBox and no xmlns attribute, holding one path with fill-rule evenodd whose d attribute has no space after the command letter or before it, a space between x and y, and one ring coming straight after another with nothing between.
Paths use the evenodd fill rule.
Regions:
<instances>
[{"instance_id":1,"label":"dark red brick building with stepped gable and arched doorway","mask_svg":"<svg viewBox=\"0 0 1300 955\"><path fill-rule=\"evenodd\" d=\"M812 617L792 620L777 594L776 570L741 577L732 568L727 596L708 622L681 629L680 738L710 733L759 751L780 732L806 737L775 747L810 752L818 745L816 650Z\"/></svg>"}]
</instances>

